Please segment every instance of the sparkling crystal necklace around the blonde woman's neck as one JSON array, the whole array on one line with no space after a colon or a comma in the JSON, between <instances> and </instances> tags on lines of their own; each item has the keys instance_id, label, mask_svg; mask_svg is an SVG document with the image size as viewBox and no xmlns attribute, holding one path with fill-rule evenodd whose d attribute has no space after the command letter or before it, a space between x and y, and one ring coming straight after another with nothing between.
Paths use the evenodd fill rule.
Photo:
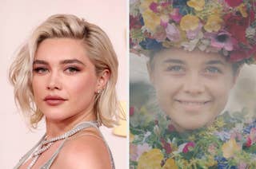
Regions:
<instances>
[{"instance_id":1,"label":"sparkling crystal necklace around the blonde woman's neck","mask_svg":"<svg viewBox=\"0 0 256 169\"><path fill-rule=\"evenodd\" d=\"M88 121L88 122L93 123L98 126L98 121ZM34 153L32 154L32 161L30 162L30 165L27 167L27 169L31 169L34 166L34 164L37 162L39 156L42 155L42 153L44 151L48 150L54 142L56 142L58 140L64 140L70 136L73 136L74 134L82 131L85 128L87 128L87 127L79 126L79 124L78 124L76 127L72 128L68 132L65 132L61 136L54 137L50 140L46 140L47 139L47 136L46 136L45 139L42 140L42 143L40 143L40 145L38 146L38 150L34 151Z\"/></svg>"}]
</instances>

